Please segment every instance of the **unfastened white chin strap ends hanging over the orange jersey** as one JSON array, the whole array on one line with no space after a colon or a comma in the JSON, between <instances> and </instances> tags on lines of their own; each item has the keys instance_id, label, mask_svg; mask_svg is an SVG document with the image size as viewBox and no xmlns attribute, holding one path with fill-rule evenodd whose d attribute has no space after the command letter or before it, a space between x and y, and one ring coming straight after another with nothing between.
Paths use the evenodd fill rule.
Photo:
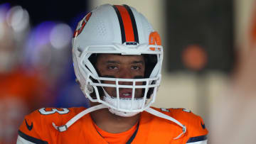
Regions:
<instances>
[{"instance_id":1,"label":"unfastened white chin strap ends hanging over the orange jersey","mask_svg":"<svg viewBox=\"0 0 256 144\"><path fill-rule=\"evenodd\" d=\"M92 111L96 111L98 109L105 109L105 108L109 108L108 106L105 106L104 104L99 104L97 106L92 106L89 109L85 109L84 111L81 111L80 113L78 113L76 116L74 116L73 118L70 119L70 121L68 121L67 123L65 123L65 125L63 126L56 126L55 123L53 123L53 127L60 131L67 131L68 128L73 125L73 123L75 123L75 121L78 121L78 119L82 118L82 116L85 116L85 114L90 113ZM109 108L110 109L110 108ZM174 123L176 123L178 126L181 126L182 128L182 133L180 135L178 135L176 138L174 138L174 140L181 138L181 135L186 133L186 126L182 125L179 121L177 121L176 119L172 118L171 116L168 116L164 113L160 113L159 111L156 111L154 109L151 109L150 107L148 109L145 110L148 113L153 114L154 116L158 116L160 118L164 118L167 119L169 121L172 121ZM122 112L123 113L123 112Z\"/></svg>"}]
</instances>

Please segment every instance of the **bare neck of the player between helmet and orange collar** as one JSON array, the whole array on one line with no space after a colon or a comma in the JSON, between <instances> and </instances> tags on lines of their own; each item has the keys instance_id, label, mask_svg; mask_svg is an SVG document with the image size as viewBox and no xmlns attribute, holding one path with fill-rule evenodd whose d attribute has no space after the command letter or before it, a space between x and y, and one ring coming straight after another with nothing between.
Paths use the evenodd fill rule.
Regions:
<instances>
[{"instance_id":1,"label":"bare neck of the player between helmet and orange collar","mask_svg":"<svg viewBox=\"0 0 256 144\"><path fill-rule=\"evenodd\" d=\"M103 131L109 133L122 133L128 131L138 121L140 114L131 117L122 117L110 113L108 109L100 109L90 113L92 121Z\"/></svg>"}]
</instances>

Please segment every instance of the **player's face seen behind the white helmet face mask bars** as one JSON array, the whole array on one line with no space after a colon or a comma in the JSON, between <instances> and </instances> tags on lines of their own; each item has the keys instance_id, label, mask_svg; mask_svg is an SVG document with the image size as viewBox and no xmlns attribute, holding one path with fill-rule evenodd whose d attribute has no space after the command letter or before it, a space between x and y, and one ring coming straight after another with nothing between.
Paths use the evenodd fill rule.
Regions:
<instances>
[{"instance_id":1,"label":"player's face seen behind the white helmet face mask bars","mask_svg":"<svg viewBox=\"0 0 256 144\"><path fill-rule=\"evenodd\" d=\"M114 55L101 54L97 58L97 70L101 77L123 78L123 79L141 79L144 78L145 61L142 55ZM105 84L115 84L112 81L104 81ZM132 82L119 82L122 85L132 85ZM136 82L136 85L142 85L142 82ZM107 94L116 97L115 87L104 87ZM135 89L135 97L142 97L142 89ZM131 98L132 89L119 88L120 98Z\"/></svg>"}]
</instances>

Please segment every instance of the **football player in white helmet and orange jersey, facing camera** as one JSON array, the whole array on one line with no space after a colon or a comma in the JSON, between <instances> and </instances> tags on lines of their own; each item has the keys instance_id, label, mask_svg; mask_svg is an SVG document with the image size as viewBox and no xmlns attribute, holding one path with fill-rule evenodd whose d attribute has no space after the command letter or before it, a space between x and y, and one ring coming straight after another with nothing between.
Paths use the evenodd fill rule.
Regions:
<instances>
[{"instance_id":1,"label":"football player in white helmet and orange jersey, facing camera","mask_svg":"<svg viewBox=\"0 0 256 144\"><path fill-rule=\"evenodd\" d=\"M151 107L162 60L160 36L141 13L97 7L73 35L75 74L90 108L38 109L25 117L17 143L207 143L200 116Z\"/></svg>"}]
</instances>

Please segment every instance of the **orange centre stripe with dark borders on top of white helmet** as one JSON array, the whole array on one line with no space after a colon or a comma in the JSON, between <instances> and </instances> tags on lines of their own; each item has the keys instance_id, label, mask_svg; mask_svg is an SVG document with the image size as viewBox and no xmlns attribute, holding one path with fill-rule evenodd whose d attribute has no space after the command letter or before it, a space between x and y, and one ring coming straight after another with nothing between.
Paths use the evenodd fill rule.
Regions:
<instances>
[{"instance_id":1,"label":"orange centre stripe with dark borders on top of white helmet","mask_svg":"<svg viewBox=\"0 0 256 144\"><path fill-rule=\"evenodd\" d=\"M119 20L122 35L122 43L139 43L137 25L132 10L127 5L114 5L113 8L116 11Z\"/></svg>"}]
</instances>

